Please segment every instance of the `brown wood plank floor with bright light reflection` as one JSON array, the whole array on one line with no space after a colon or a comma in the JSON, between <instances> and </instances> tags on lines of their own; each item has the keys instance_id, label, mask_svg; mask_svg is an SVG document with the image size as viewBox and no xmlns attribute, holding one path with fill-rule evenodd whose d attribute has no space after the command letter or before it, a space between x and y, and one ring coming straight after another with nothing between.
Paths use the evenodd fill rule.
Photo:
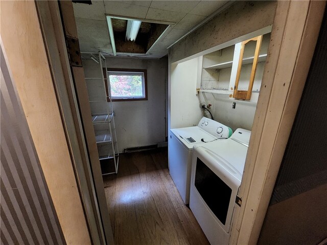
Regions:
<instances>
[{"instance_id":1,"label":"brown wood plank floor with bright light reflection","mask_svg":"<svg viewBox=\"0 0 327 245\"><path fill-rule=\"evenodd\" d=\"M168 170L166 148L122 154L104 177L116 245L209 244Z\"/></svg>"}]
</instances>

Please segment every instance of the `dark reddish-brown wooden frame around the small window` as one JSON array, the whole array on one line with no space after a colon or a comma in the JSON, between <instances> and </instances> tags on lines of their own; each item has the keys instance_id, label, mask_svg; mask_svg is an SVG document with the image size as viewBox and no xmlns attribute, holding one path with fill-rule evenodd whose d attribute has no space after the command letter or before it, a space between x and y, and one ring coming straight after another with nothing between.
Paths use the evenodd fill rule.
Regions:
<instances>
[{"instance_id":1,"label":"dark reddish-brown wooden frame around the small window","mask_svg":"<svg viewBox=\"0 0 327 245\"><path fill-rule=\"evenodd\" d=\"M146 69L127 69L127 68L103 68L103 76L104 76L104 80L105 80L105 86L106 86L106 94L107 94L107 102L110 102L110 97L109 97L109 88L108 88L108 83L107 83L107 79L109 78L107 71L115 71L115 72L143 72L144 74L144 93L145 93L145 97L144 98L123 98L123 99L118 99L118 98L112 98L111 97L111 101L112 102L118 102L118 101L147 101L148 100L148 82L147 82L147 70Z\"/></svg>"}]
</instances>

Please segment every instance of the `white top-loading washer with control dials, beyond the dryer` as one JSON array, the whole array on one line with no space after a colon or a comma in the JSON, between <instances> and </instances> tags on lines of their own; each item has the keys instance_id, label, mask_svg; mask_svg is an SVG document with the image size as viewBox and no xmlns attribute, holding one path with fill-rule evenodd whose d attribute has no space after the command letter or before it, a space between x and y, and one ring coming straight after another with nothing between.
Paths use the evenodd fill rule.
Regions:
<instances>
[{"instance_id":1,"label":"white top-loading washer with control dials, beyond the dryer","mask_svg":"<svg viewBox=\"0 0 327 245\"><path fill-rule=\"evenodd\" d=\"M193 146L226 139L231 129L218 121L202 117L198 126L171 129L168 142L169 173L185 204L190 200Z\"/></svg>"}]
</instances>

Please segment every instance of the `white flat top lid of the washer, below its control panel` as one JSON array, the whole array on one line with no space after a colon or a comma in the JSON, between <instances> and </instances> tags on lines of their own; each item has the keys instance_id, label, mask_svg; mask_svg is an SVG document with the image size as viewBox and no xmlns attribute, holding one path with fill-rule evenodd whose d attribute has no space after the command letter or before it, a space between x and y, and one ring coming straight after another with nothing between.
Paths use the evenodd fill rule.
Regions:
<instances>
[{"instance_id":1,"label":"white flat top lid of the washer, below its control panel","mask_svg":"<svg viewBox=\"0 0 327 245\"><path fill-rule=\"evenodd\" d=\"M176 135L176 138L178 138L179 141L189 149L189 151L192 151L195 144L204 143L201 139L204 141L212 141L216 139L198 126L172 129L171 132Z\"/></svg>"}]
</instances>

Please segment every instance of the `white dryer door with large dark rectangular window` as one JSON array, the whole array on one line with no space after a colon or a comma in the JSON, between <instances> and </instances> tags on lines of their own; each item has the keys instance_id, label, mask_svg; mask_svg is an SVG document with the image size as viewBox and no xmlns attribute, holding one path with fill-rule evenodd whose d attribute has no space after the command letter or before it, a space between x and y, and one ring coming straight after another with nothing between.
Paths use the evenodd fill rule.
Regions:
<instances>
[{"instance_id":1,"label":"white dryer door with large dark rectangular window","mask_svg":"<svg viewBox=\"0 0 327 245\"><path fill-rule=\"evenodd\" d=\"M193 193L198 195L205 209L228 233L241 183L234 175L237 174L236 169L226 159L206 149L205 145L196 147L193 153L191 189L194 189Z\"/></svg>"}]
</instances>

